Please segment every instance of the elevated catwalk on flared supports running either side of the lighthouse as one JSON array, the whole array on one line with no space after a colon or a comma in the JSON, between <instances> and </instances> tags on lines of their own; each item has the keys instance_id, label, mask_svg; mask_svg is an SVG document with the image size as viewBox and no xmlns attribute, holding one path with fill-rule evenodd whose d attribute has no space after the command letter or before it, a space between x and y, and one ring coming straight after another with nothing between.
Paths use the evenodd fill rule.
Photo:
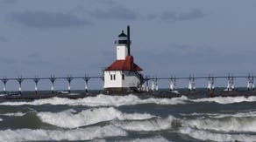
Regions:
<instances>
[{"instance_id":1,"label":"elevated catwalk on flared supports running either side of the lighthouse","mask_svg":"<svg viewBox=\"0 0 256 142\"><path fill-rule=\"evenodd\" d=\"M234 91L236 90L235 88L235 80L237 78L244 78L245 79L245 88L247 89L247 91L254 91L254 84L253 84L253 80L254 78L256 78L256 76L253 76L252 73L248 74L247 76L234 76L233 74L228 74L227 76L213 76L211 74L209 74L209 76L205 76L205 77L196 77L195 75L191 74L188 77L176 77L176 76L171 76L169 78L157 78L157 77L151 77L151 76L145 76L142 79L142 85L141 86L141 91L159 91L159 81L160 80L167 80L169 83L169 91L175 91L178 86L177 86L177 82L179 82L180 80L188 80L188 91L196 91L196 80L200 80L203 79L205 80L205 88L208 91L215 91L216 88L216 81L217 79L225 79L226 80L226 87L225 86L217 86L217 87L225 87L224 91ZM74 77L71 74L68 74L67 77L56 77L54 75L51 75L48 78L40 78L38 75L34 76L34 78L24 78L23 76L18 76L18 78L0 78L0 80L2 81L3 85L4 85L4 89L3 89L3 93L7 94L7 85L8 82L13 80L13 81L17 81L18 82L18 94L22 94L22 84L24 83L25 80L27 81L32 81L35 85L34 87L34 94L38 95L39 94L39 83L41 80L49 80L49 84L51 85L51 88L49 88L49 90L51 91L51 94L55 94L55 90L54 90L54 83L56 80L60 80L60 81L64 81L67 82L67 93L71 93L72 91L72 81L74 81L75 79L81 79L84 81L84 92L85 93L89 93L89 81L91 79L98 79L98 80L103 80L103 76L89 76L89 75L85 75L83 77ZM149 86L151 85L151 87ZM138 86L138 87L139 87Z\"/></svg>"}]
</instances>

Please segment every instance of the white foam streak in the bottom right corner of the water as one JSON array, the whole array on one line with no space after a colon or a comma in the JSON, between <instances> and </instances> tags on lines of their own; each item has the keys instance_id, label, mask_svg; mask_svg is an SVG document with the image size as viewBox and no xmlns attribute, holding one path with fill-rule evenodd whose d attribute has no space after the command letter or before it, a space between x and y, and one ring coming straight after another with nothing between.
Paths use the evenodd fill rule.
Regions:
<instances>
[{"instance_id":1,"label":"white foam streak in the bottom right corner of the water","mask_svg":"<svg viewBox=\"0 0 256 142\"><path fill-rule=\"evenodd\" d=\"M200 139L203 141L255 141L255 135L247 134L225 134L196 130L189 127L183 127L179 130L182 134L186 134L191 138Z\"/></svg>"}]
</instances>

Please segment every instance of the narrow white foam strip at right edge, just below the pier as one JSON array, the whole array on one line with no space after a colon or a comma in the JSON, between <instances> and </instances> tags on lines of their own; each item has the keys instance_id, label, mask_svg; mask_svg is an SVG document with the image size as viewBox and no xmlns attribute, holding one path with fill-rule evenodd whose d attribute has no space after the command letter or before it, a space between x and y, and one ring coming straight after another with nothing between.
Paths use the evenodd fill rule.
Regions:
<instances>
[{"instance_id":1,"label":"narrow white foam strip at right edge, just below the pier","mask_svg":"<svg viewBox=\"0 0 256 142\"><path fill-rule=\"evenodd\" d=\"M215 98L197 98L189 99L192 102L215 102L218 104L233 104L240 102L256 102L255 96L246 97L215 97Z\"/></svg>"}]
</instances>

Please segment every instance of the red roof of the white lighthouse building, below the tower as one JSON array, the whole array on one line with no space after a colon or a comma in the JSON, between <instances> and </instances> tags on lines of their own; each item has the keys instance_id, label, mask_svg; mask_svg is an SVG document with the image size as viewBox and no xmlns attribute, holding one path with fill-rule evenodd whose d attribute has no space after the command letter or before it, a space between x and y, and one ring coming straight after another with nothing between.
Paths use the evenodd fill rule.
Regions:
<instances>
[{"instance_id":1,"label":"red roof of the white lighthouse building, below the tower","mask_svg":"<svg viewBox=\"0 0 256 142\"><path fill-rule=\"evenodd\" d=\"M132 56L125 57L125 60L116 60L105 71L143 71L133 62Z\"/></svg>"}]
</instances>

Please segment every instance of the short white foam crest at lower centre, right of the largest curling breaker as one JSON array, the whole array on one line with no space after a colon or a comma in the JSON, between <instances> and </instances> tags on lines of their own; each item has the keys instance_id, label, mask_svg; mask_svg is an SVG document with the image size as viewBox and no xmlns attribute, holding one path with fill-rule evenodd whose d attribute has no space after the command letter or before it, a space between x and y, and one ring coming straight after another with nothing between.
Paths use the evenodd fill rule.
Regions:
<instances>
[{"instance_id":1,"label":"short white foam crest at lower centre, right of the largest curling breaker","mask_svg":"<svg viewBox=\"0 0 256 142\"><path fill-rule=\"evenodd\" d=\"M152 118L142 121L120 121L114 122L113 125L119 126L129 131L160 131L172 128L174 117Z\"/></svg>"}]
</instances>

